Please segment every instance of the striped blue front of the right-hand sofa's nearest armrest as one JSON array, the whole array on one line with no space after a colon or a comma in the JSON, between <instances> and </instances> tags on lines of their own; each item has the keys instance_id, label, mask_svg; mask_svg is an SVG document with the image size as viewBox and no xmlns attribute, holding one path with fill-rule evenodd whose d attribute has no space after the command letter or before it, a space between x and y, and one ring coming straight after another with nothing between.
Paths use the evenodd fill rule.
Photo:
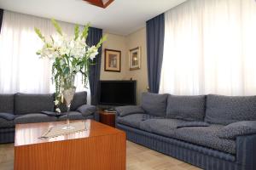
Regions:
<instances>
[{"instance_id":1,"label":"striped blue front of the right-hand sofa's nearest armrest","mask_svg":"<svg viewBox=\"0 0 256 170\"><path fill-rule=\"evenodd\" d=\"M256 134L236 137L236 162L242 169L256 169Z\"/></svg>"}]
</instances>

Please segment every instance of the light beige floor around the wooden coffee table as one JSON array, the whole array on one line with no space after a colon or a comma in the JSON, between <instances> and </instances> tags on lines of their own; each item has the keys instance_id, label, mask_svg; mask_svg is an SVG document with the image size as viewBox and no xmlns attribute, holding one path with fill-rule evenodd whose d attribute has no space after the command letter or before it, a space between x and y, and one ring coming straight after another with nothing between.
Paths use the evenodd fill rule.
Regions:
<instances>
[{"instance_id":1,"label":"light beige floor around the wooden coffee table","mask_svg":"<svg viewBox=\"0 0 256 170\"><path fill-rule=\"evenodd\" d=\"M14 168L14 144L0 144L0 170ZM183 161L127 141L127 170L196 170Z\"/></svg>"}]
</instances>

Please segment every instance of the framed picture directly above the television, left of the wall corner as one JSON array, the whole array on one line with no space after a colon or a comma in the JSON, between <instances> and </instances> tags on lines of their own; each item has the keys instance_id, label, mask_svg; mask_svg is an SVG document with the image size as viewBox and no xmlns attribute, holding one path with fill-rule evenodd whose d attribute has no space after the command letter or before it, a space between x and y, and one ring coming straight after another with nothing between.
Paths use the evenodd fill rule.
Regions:
<instances>
[{"instance_id":1,"label":"framed picture directly above the television, left of the wall corner","mask_svg":"<svg viewBox=\"0 0 256 170\"><path fill-rule=\"evenodd\" d=\"M105 71L121 71L121 51L105 49Z\"/></svg>"}]
</instances>

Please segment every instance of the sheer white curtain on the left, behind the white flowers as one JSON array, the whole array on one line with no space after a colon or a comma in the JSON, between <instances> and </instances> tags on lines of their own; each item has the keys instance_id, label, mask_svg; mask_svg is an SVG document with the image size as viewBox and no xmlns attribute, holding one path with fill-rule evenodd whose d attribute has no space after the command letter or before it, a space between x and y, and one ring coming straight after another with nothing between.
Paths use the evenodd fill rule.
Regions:
<instances>
[{"instance_id":1,"label":"sheer white curtain on the left, behind the white flowers","mask_svg":"<svg viewBox=\"0 0 256 170\"><path fill-rule=\"evenodd\" d=\"M73 24L60 22L67 36L73 35ZM43 42L34 32L38 27L45 37L55 35L49 19L4 11L0 34L0 94L52 93L51 65L47 59L39 59L37 50ZM77 91L84 89L81 76L76 78ZM90 102L90 99L89 99Z\"/></svg>"}]
</instances>

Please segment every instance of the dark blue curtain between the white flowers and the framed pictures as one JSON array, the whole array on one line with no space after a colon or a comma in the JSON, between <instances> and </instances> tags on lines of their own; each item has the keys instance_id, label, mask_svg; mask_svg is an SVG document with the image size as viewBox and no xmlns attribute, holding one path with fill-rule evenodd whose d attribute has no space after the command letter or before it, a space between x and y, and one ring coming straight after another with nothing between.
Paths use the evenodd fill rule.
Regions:
<instances>
[{"instance_id":1,"label":"dark blue curtain between the white flowers and the framed pictures","mask_svg":"<svg viewBox=\"0 0 256 170\"><path fill-rule=\"evenodd\" d=\"M86 43L89 46L96 45L102 38L102 29L90 27ZM102 47L98 50L99 54L94 59L95 65L90 65L89 84L91 105L98 104L98 93L101 75Z\"/></svg>"}]
</instances>

